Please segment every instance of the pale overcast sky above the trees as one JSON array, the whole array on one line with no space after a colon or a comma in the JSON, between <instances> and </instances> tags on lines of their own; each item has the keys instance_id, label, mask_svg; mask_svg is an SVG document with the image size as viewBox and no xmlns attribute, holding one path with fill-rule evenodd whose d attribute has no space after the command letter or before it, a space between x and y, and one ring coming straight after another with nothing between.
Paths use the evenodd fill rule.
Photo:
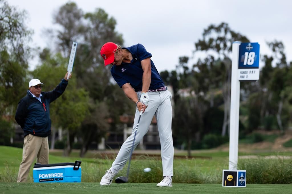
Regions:
<instances>
[{"instance_id":1,"label":"pale overcast sky above the trees","mask_svg":"<svg viewBox=\"0 0 292 194\"><path fill-rule=\"evenodd\" d=\"M9 5L28 13L27 26L34 30L33 46L44 48L48 41L42 31L54 28L53 13L65 0L8 0ZM84 13L103 8L117 21L124 46L141 43L152 53L158 71L174 70L179 56L192 56L194 42L210 24L226 22L251 42L259 42L260 54L271 54L267 41L284 43L287 60L292 60L292 1L283 0L200 0L159 1L75 0ZM77 48L78 54L78 48ZM196 60L195 56L193 60ZM36 61L31 61L33 69ZM192 61L190 61L191 65ZM74 64L77 65L77 64ZM260 63L262 65L262 63ZM73 68L74 72L74 68Z\"/></svg>"}]
</instances>

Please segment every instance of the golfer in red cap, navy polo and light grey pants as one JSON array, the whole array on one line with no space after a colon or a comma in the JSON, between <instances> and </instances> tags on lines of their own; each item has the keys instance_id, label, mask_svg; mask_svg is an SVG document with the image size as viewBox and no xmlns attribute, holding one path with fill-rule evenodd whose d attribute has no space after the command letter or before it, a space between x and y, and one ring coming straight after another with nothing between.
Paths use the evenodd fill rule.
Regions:
<instances>
[{"instance_id":1,"label":"golfer in red cap, navy polo and light grey pants","mask_svg":"<svg viewBox=\"0 0 292 194\"><path fill-rule=\"evenodd\" d=\"M171 133L171 92L167 90L153 61L152 54L141 44L121 48L113 42L102 46L100 54L105 65L112 64L111 73L114 80L124 90L125 95L132 100L137 108L132 135L121 146L112 167L106 171L100 185L110 185L114 176L123 169L131 154L135 126L140 111L143 111L136 134L134 148L147 133L153 116L157 120L161 144L161 159L163 180L157 186L172 186L173 177L173 141Z\"/></svg>"}]
</instances>

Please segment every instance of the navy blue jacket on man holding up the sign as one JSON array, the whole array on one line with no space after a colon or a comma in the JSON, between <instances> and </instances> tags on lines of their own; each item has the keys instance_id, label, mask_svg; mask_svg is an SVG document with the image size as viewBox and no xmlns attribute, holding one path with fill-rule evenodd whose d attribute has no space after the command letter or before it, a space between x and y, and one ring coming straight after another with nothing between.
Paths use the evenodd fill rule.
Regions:
<instances>
[{"instance_id":1,"label":"navy blue jacket on man holding up the sign","mask_svg":"<svg viewBox=\"0 0 292 194\"><path fill-rule=\"evenodd\" d=\"M51 135L51 118L49 105L65 91L68 81L62 79L60 84L50 92L41 92L41 102L27 90L27 95L18 103L15 120L24 131L24 136L47 137Z\"/></svg>"}]
</instances>

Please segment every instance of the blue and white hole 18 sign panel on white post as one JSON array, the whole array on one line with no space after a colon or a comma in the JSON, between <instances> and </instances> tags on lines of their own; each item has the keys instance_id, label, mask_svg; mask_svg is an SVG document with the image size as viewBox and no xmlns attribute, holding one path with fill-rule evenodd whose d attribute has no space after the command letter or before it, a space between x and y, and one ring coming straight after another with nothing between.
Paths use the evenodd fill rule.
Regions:
<instances>
[{"instance_id":1,"label":"blue and white hole 18 sign panel on white post","mask_svg":"<svg viewBox=\"0 0 292 194\"><path fill-rule=\"evenodd\" d=\"M258 80L260 45L258 42L241 43L239 46L238 80Z\"/></svg>"}]
</instances>

